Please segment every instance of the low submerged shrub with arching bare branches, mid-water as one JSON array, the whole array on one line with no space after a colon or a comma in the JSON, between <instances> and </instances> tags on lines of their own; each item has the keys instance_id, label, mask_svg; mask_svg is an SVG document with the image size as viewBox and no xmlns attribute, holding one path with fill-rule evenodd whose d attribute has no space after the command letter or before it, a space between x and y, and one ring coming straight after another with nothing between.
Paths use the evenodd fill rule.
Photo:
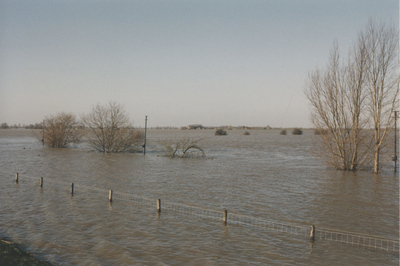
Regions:
<instances>
[{"instance_id":1,"label":"low submerged shrub with arching bare branches, mid-water","mask_svg":"<svg viewBox=\"0 0 400 266\"><path fill-rule=\"evenodd\" d=\"M171 158L199 158L205 157L204 150L199 146L203 140L194 138L164 139L161 141L164 155Z\"/></svg>"}]
</instances>

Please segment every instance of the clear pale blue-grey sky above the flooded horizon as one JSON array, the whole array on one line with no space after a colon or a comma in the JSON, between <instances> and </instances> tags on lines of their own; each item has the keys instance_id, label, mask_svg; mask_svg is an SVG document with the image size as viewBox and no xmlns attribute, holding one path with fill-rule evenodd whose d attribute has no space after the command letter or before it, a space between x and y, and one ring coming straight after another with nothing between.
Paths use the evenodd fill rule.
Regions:
<instances>
[{"instance_id":1,"label":"clear pale blue-grey sky above the flooded horizon","mask_svg":"<svg viewBox=\"0 0 400 266\"><path fill-rule=\"evenodd\" d=\"M0 0L0 123L111 100L135 126L310 127L308 72L369 18L399 1Z\"/></svg>"}]
</instances>

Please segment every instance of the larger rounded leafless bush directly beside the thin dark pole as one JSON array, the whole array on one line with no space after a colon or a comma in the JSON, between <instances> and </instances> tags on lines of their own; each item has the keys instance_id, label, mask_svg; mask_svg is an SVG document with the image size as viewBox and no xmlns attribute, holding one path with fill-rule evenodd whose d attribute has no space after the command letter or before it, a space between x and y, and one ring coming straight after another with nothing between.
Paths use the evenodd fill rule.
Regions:
<instances>
[{"instance_id":1,"label":"larger rounded leafless bush directly beside the thin dark pole","mask_svg":"<svg viewBox=\"0 0 400 266\"><path fill-rule=\"evenodd\" d=\"M140 150L143 134L132 127L122 105L97 104L81 119L88 131L86 140L94 150L104 153Z\"/></svg>"}]
</instances>

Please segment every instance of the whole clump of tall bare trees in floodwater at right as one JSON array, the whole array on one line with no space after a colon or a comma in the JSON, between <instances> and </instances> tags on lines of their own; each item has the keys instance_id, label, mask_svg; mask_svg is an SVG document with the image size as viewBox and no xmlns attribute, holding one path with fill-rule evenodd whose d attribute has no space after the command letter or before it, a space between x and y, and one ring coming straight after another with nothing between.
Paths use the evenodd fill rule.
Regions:
<instances>
[{"instance_id":1,"label":"whole clump of tall bare trees in floodwater at right","mask_svg":"<svg viewBox=\"0 0 400 266\"><path fill-rule=\"evenodd\" d=\"M323 158L337 169L359 170L374 158L374 171L378 171L399 91L396 36L392 28L371 21L345 62L335 43L327 66L309 75L305 94L311 103L311 121L325 133L318 135Z\"/></svg>"}]
</instances>

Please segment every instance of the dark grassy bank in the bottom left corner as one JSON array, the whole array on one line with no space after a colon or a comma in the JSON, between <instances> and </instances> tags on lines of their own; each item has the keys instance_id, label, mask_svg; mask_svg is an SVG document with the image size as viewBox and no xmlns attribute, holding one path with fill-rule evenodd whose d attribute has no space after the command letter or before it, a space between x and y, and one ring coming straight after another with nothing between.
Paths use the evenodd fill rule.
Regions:
<instances>
[{"instance_id":1,"label":"dark grassy bank in the bottom left corner","mask_svg":"<svg viewBox=\"0 0 400 266\"><path fill-rule=\"evenodd\" d=\"M0 265L48 266L51 264L35 259L32 253L23 251L18 244L0 238Z\"/></svg>"}]
</instances>

